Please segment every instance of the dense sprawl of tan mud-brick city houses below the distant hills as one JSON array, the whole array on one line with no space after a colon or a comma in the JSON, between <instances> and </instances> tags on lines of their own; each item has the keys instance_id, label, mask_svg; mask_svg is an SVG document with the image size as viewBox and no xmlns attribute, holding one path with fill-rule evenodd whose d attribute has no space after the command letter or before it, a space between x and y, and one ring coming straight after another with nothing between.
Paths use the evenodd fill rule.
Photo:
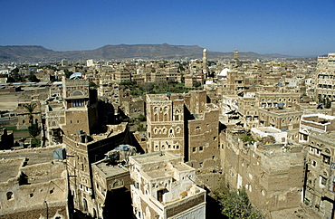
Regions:
<instances>
[{"instance_id":1,"label":"dense sprawl of tan mud-brick city houses below the distant hills","mask_svg":"<svg viewBox=\"0 0 335 219\"><path fill-rule=\"evenodd\" d=\"M211 63L204 50L187 64L88 61L62 81L22 84L7 115L18 129L40 124L42 147L13 150L13 133L1 130L0 215L206 218L208 191L225 181L265 215L333 218L334 76L335 53L314 62L243 62L236 53ZM132 97L125 81L203 89ZM131 130L120 114L146 116L147 130Z\"/></svg>"}]
</instances>

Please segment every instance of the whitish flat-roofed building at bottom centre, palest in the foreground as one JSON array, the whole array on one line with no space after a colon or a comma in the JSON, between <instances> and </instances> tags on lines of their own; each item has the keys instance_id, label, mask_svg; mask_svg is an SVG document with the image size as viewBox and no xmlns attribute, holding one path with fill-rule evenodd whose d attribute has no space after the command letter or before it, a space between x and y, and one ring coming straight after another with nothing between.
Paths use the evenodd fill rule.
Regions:
<instances>
[{"instance_id":1,"label":"whitish flat-roofed building at bottom centre, palest in the foreground","mask_svg":"<svg viewBox=\"0 0 335 219\"><path fill-rule=\"evenodd\" d=\"M136 218L206 218L206 191L196 170L169 151L129 157Z\"/></svg>"}]
</instances>

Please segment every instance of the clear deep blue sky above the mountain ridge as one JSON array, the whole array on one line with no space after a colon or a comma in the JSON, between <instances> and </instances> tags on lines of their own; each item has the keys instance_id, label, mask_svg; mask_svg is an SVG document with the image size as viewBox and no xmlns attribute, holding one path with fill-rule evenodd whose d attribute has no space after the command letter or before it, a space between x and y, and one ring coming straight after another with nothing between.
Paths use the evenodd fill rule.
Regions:
<instances>
[{"instance_id":1,"label":"clear deep blue sky above the mountain ridge","mask_svg":"<svg viewBox=\"0 0 335 219\"><path fill-rule=\"evenodd\" d=\"M54 51L111 44L211 52L335 52L335 0L0 0L0 45Z\"/></svg>"}]
</instances>

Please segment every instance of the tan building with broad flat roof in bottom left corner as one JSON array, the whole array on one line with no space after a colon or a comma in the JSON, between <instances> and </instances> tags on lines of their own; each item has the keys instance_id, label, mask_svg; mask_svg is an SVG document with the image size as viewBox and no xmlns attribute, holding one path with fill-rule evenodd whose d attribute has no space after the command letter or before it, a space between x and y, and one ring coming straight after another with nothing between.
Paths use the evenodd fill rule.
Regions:
<instances>
[{"instance_id":1,"label":"tan building with broad flat roof in bottom left corner","mask_svg":"<svg viewBox=\"0 0 335 219\"><path fill-rule=\"evenodd\" d=\"M1 218L72 218L66 165L53 149L1 153Z\"/></svg>"}]
</instances>

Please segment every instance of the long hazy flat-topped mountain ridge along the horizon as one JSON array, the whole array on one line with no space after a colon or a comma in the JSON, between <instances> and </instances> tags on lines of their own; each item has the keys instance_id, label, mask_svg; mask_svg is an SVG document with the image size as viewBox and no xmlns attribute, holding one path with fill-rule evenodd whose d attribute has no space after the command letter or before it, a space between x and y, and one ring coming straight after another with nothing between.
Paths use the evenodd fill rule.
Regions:
<instances>
[{"instance_id":1,"label":"long hazy flat-topped mountain ridge along the horizon","mask_svg":"<svg viewBox=\"0 0 335 219\"><path fill-rule=\"evenodd\" d=\"M163 44L120 44L105 45L95 50L56 52L43 46L0 46L0 62L41 62L68 59L120 60L120 59L199 59L204 48L197 45ZM234 58L234 52L207 52L208 59ZM281 54L258 54L239 52L241 59L292 58Z\"/></svg>"}]
</instances>

